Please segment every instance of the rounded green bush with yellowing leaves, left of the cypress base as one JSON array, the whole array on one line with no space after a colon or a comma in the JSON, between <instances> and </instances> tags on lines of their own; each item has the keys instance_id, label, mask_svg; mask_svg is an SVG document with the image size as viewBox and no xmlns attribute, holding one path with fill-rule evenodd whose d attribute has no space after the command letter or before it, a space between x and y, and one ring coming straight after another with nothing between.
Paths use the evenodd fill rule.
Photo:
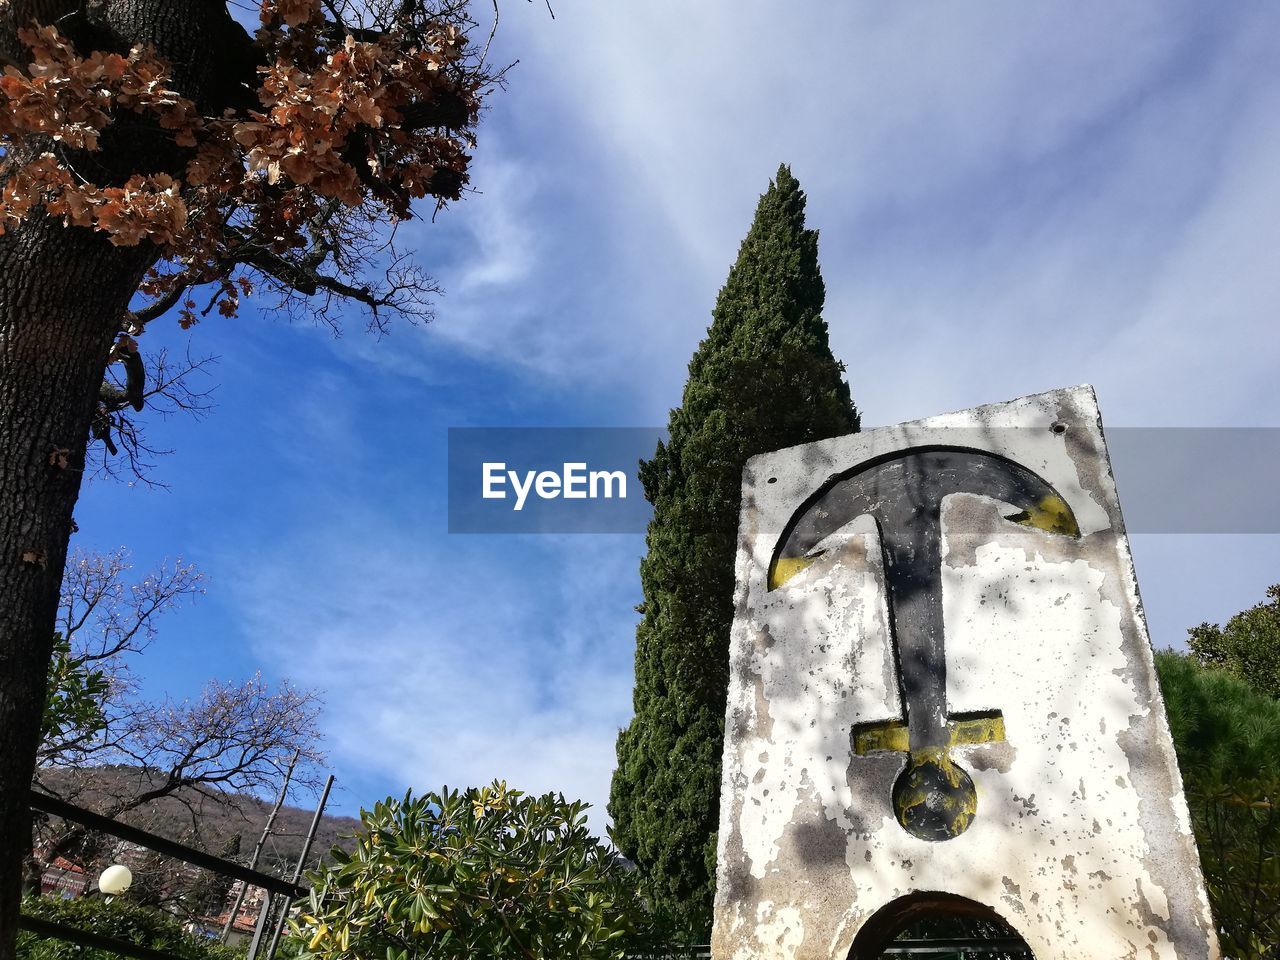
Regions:
<instances>
[{"instance_id":1,"label":"rounded green bush with yellowing leaves, left of the cypress base","mask_svg":"<svg viewBox=\"0 0 1280 960\"><path fill-rule=\"evenodd\" d=\"M289 920L314 960L622 960L662 942L586 804L506 783L387 799Z\"/></svg>"}]
</instances>

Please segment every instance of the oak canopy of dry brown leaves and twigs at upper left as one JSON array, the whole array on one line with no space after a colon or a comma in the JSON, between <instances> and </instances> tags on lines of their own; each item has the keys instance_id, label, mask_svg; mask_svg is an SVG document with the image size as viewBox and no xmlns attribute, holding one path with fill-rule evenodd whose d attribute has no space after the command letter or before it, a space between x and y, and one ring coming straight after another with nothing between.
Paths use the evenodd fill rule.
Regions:
<instances>
[{"instance_id":1,"label":"oak canopy of dry brown leaves and twigs at upper left","mask_svg":"<svg viewBox=\"0 0 1280 960\"><path fill-rule=\"evenodd\" d=\"M257 283L319 294L321 310L421 306L403 259L381 287L358 279L362 241L466 183L492 78L468 51L465 4L262 0L260 12L252 38L216 18L205 27L225 59L196 88L142 37L99 46L109 24L92 5L10 0L0 14L0 232L51 216L150 244L164 266L120 317L125 338L173 307L184 326L232 316ZM197 314L198 287L211 292ZM136 344L122 343L123 361Z\"/></svg>"}]
</instances>

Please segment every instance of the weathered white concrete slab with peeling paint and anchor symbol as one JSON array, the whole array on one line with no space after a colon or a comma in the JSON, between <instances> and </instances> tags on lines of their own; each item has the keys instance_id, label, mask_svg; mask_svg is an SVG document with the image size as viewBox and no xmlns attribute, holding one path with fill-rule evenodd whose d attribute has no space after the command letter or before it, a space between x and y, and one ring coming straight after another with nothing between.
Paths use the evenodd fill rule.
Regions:
<instances>
[{"instance_id":1,"label":"weathered white concrete slab with peeling paint and anchor symbol","mask_svg":"<svg viewBox=\"0 0 1280 960\"><path fill-rule=\"evenodd\" d=\"M717 960L1217 957L1091 388L753 458L737 584Z\"/></svg>"}]
</instances>

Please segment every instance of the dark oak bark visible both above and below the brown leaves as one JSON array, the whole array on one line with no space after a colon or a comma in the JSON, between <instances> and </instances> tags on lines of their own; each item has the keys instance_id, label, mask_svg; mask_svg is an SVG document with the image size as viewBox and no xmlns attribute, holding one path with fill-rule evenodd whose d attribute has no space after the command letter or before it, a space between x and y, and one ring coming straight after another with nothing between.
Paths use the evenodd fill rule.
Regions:
<instances>
[{"instance_id":1,"label":"dark oak bark visible both above and below the brown leaves","mask_svg":"<svg viewBox=\"0 0 1280 960\"><path fill-rule=\"evenodd\" d=\"M206 114L253 90L248 36L215 0L10 0L0 61L26 63L17 28L33 20L56 20L81 54L154 46ZM182 151L146 134L136 122L109 128L86 165L92 179L180 173ZM27 791L90 424L111 342L156 256L148 242L113 247L47 219L0 236L0 960L14 956Z\"/></svg>"}]
</instances>

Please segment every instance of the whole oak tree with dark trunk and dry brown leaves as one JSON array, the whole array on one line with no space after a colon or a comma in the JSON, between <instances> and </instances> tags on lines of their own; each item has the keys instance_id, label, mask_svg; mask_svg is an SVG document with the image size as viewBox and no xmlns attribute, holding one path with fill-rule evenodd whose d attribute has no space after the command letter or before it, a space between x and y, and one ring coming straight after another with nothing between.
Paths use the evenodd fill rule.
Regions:
<instances>
[{"instance_id":1,"label":"whole oak tree with dark trunk and dry brown leaves","mask_svg":"<svg viewBox=\"0 0 1280 960\"><path fill-rule=\"evenodd\" d=\"M425 311L394 224L460 197L500 79L462 0L255 6L0 0L0 960L72 511L91 435L146 403L140 338L255 291Z\"/></svg>"}]
</instances>

